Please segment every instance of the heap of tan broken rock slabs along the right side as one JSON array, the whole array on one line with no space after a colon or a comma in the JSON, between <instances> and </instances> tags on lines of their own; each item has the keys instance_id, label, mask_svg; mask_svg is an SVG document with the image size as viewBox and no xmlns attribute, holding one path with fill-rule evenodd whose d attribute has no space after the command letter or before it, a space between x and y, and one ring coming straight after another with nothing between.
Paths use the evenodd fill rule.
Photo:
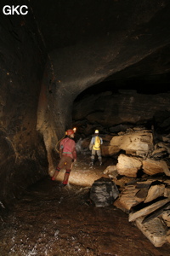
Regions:
<instances>
[{"instance_id":1,"label":"heap of tan broken rock slabs along the right side","mask_svg":"<svg viewBox=\"0 0 170 256\"><path fill-rule=\"evenodd\" d=\"M118 154L104 173L121 191L114 206L127 212L155 247L170 242L170 134L127 129L111 138L104 154Z\"/></svg>"}]
</instances>

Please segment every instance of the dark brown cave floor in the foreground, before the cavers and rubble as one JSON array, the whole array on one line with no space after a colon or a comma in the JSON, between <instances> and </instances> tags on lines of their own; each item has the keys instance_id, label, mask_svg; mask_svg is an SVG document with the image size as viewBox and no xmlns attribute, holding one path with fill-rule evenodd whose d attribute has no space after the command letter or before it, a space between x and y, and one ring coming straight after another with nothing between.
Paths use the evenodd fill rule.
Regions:
<instances>
[{"instance_id":1,"label":"dark brown cave floor in the foreground, before the cavers and rubble","mask_svg":"<svg viewBox=\"0 0 170 256\"><path fill-rule=\"evenodd\" d=\"M91 172L86 158L79 157L74 175L82 168ZM94 173L104 169L96 165ZM114 206L95 207L89 201L89 186L70 183L60 188L59 183L45 177L3 218L0 256L169 255L169 244L154 247L128 222L125 212Z\"/></svg>"}]
</instances>

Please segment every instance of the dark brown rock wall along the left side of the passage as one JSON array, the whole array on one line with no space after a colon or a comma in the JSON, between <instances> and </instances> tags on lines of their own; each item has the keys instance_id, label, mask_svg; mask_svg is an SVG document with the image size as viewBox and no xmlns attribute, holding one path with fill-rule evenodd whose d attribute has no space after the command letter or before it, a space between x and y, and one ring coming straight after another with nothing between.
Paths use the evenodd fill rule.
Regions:
<instances>
[{"instance_id":1,"label":"dark brown rock wall along the left side of the passage","mask_svg":"<svg viewBox=\"0 0 170 256\"><path fill-rule=\"evenodd\" d=\"M1 1L1 10L5 4ZM5 210L47 172L46 148L36 130L47 54L31 9L25 16L1 14L0 38L0 205Z\"/></svg>"}]
</instances>

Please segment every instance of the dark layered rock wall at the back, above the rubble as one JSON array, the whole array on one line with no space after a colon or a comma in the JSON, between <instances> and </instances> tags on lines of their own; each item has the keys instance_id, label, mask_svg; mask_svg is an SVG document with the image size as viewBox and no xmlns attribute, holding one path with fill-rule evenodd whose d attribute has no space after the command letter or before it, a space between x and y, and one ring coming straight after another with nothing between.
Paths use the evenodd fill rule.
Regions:
<instances>
[{"instance_id":1,"label":"dark layered rock wall at the back, above the rubble","mask_svg":"<svg viewBox=\"0 0 170 256\"><path fill-rule=\"evenodd\" d=\"M144 95L135 90L119 90L89 95L75 102L74 120L88 120L88 124L111 127L118 124L144 124L154 116L170 111L170 94ZM160 113L160 114L158 114Z\"/></svg>"}]
</instances>

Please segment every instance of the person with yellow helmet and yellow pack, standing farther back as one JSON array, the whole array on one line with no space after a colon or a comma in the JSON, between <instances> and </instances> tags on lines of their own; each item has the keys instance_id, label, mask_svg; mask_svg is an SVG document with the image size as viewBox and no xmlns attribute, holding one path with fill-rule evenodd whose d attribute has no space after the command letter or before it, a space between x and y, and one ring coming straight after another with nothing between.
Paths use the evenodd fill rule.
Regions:
<instances>
[{"instance_id":1,"label":"person with yellow helmet and yellow pack, standing farther back","mask_svg":"<svg viewBox=\"0 0 170 256\"><path fill-rule=\"evenodd\" d=\"M94 158L95 155L97 154L98 159L99 159L99 165L102 165L102 157L101 157L101 144L103 144L103 140L101 137L99 137L99 130L95 130L94 136L91 139L91 142L89 144L89 149L92 150L91 154L91 166L94 166Z\"/></svg>"}]
</instances>

